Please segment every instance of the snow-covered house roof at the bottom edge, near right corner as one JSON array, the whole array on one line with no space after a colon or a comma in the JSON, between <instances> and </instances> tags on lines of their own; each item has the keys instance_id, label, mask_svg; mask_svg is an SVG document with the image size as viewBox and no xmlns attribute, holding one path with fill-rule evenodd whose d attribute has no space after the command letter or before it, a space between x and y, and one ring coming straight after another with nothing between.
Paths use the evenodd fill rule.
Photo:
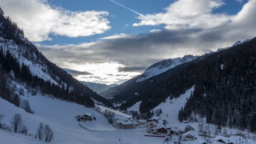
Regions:
<instances>
[{"instance_id":1,"label":"snow-covered house roof at the bottom edge, near right corner","mask_svg":"<svg viewBox=\"0 0 256 144\"><path fill-rule=\"evenodd\" d=\"M248 143L248 140L243 139L241 136L232 136L232 137L224 137L224 136L216 136L213 139L213 144L234 144L234 143Z\"/></svg>"}]
</instances>

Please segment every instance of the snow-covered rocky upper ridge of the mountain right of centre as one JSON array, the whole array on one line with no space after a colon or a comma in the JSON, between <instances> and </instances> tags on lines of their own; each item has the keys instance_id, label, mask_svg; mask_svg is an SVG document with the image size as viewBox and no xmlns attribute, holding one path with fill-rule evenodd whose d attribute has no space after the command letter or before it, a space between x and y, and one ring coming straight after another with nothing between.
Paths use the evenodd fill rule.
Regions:
<instances>
[{"instance_id":1,"label":"snow-covered rocky upper ridge of the mountain right of centre","mask_svg":"<svg viewBox=\"0 0 256 144\"><path fill-rule=\"evenodd\" d=\"M197 57L199 56L187 55L182 58L178 57L173 59L164 59L160 62L151 65L146 71L144 71L142 75L136 78L136 82L141 82L148 79L149 77L153 77L161 73L164 73L165 71L174 68L179 64L193 61Z\"/></svg>"}]
</instances>

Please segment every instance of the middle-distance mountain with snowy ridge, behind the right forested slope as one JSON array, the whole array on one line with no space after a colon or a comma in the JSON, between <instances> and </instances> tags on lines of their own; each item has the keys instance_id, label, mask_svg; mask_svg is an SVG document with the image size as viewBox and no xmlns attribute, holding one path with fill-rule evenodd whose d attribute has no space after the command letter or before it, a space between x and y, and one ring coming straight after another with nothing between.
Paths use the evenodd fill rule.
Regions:
<instances>
[{"instance_id":1,"label":"middle-distance mountain with snowy ridge, behind the right forested slope","mask_svg":"<svg viewBox=\"0 0 256 144\"><path fill-rule=\"evenodd\" d=\"M199 58L199 56L184 56L183 58L165 59L150 66L142 75L122 83L119 86L101 92L105 98L112 98L113 103L126 101L124 109L132 106L141 100L141 95L150 88L158 85L158 82L165 80L169 75L160 76L165 71L175 68L177 65L187 63ZM124 105L123 105L124 106Z\"/></svg>"}]
</instances>

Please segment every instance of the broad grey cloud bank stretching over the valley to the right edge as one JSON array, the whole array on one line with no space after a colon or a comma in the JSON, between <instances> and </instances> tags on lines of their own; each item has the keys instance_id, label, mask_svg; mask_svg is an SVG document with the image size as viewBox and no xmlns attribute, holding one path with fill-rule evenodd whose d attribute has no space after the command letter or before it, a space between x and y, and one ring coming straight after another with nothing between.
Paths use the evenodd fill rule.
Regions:
<instances>
[{"instance_id":1,"label":"broad grey cloud bank stretching over the valley to the right edge","mask_svg":"<svg viewBox=\"0 0 256 144\"><path fill-rule=\"evenodd\" d=\"M191 5L191 8L181 5L188 4L187 1L196 10ZM256 0L248 1L234 15L212 14L213 9L221 7L222 1L200 0L199 4L192 2L194 1L176 1L173 4L177 8L171 4L173 10L181 8L179 10L183 15L171 22L169 19L172 18L166 13L153 14L152 16L159 15L159 20L166 25L161 31L156 29L145 34L115 34L78 45L37 46L48 59L60 67L93 74L77 76L79 80L118 83L143 73L143 68L146 69L162 59L203 55L231 46L237 40L256 36ZM202 7L202 4L206 4L206 7ZM185 9L187 7L188 11ZM166 16L166 19L161 16ZM100 79L89 76L98 76Z\"/></svg>"}]
</instances>

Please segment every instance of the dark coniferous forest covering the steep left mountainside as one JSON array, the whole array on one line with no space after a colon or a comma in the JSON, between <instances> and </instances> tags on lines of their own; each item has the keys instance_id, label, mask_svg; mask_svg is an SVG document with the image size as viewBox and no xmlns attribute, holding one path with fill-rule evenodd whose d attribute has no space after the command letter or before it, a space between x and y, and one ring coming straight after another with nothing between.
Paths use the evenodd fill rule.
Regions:
<instances>
[{"instance_id":1,"label":"dark coniferous forest covering the steep left mountainside","mask_svg":"<svg viewBox=\"0 0 256 144\"><path fill-rule=\"evenodd\" d=\"M20 29L15 22L11 21L9 17L0 15L0 21L2 27L0 27L0 35L4 38L4 43L8 40L13 40L16 45L22 48L21 51L25 51L25 57L31 61L41 61L44 63L50 75L58 82L59 85L55 85L49 81L40 79L36 75L32 75L27 65L19 63L18 59L11 55L9 51L4 52L0 47L0 65L1 65L1 89L4 99L15 103L15 99L11 98L11 91L6 86L6 79L9 77L10 71L13 71L14 76L19 81L25 82L28 87L36 88L45 94L54 95L55 98L73 101L78 104L82 104L88 107L94 106L94 100L101 101L106 106L112 106L112 104L105 98L101 97L90 88L84 86L78 80L74 79L65 70L57 67L56 64L48 61L42 53L40 53L36 46L30 41L24 39L24 32ZM34 53L38 59L33 59L30 53ZM56 76L59 78L57 79ZM66 86L64 85L66 83ZM72 91L69 89L72 87Z\"/></svg>"}]
</instances>

